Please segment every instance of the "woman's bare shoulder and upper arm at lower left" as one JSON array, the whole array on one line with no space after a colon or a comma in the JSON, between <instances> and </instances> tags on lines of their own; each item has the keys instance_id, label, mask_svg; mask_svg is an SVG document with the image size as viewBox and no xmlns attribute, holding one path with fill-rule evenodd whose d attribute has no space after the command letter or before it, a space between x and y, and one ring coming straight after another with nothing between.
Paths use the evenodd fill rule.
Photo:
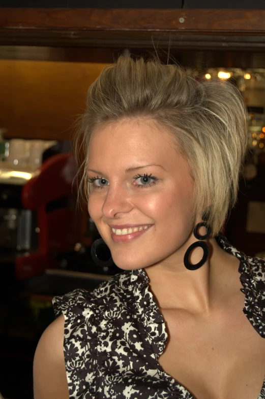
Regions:
<instances>
[{"instance_id":1,"label":"woman's bare shoulder and upper arm at lower left","mask_svg":"<svg viewBox=\"0 0 265 399\"><path fill-rule=\"evenodd\" d=\"M33 364L34 399L69 399L64 359L64 316L44 331Z\"/></svg>"}]
</instances>

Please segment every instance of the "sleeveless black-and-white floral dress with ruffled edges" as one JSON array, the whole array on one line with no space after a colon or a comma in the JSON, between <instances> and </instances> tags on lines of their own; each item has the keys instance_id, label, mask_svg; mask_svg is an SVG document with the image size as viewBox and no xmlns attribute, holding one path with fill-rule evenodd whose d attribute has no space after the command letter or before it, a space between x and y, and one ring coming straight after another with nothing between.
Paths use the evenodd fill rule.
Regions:
<instances>
[{"instance_id":1,"label":"sleeveless black-and-white floral dress with ruffled edges","mask_svg":"<svg viewBox=\"0 0 265 399\"><path fill-rule=\"evenodd\" d=\"M243 312L265 338L265 260L247 257L222 236L218 244L240 259ZM158 363L167 332L144 269L125 271L93 292L53 298L64 314L64 355L70 399L194 399ZM265 379L257 399L265 399Z\"/></svg>"}]
</instances>

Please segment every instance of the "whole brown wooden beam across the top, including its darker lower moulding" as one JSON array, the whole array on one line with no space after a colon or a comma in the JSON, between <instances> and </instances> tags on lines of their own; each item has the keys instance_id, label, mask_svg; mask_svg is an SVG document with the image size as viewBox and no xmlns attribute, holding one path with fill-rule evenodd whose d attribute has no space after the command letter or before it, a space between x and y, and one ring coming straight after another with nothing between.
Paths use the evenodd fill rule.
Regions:
<instances>
[{"instance_id":1,"label":"whole brown wooden beam across the top, including its darker lower moulding","mask_svg":"<svg viewBox=\"0 0 265 399\"><path fill-rule=\"evenodd\" d=\"M184 22L181 22L184 19ZM265 10L0 9L0 46L264 51ZM1 58L0 54L0 58Z\"/></svg>"}]
</instances>

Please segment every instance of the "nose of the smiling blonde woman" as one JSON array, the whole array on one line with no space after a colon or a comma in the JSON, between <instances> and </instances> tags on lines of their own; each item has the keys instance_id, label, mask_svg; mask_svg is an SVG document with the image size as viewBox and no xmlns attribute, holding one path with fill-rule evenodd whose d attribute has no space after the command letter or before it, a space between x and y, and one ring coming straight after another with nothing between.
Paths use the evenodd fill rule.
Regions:
<instances>
[{"instance_id":1,"label":"nose of the smiling blonde woman","mask_svg":"<svg viewBox=\"0 0 265 399\"><path fill-rule=\"evenodd\" d=\"M122 187L109 187L105 201L102 206L102 213L106 218L114 219L120 214L128 213L133 209L128 192Z\"/></svg>"}]
</instances>

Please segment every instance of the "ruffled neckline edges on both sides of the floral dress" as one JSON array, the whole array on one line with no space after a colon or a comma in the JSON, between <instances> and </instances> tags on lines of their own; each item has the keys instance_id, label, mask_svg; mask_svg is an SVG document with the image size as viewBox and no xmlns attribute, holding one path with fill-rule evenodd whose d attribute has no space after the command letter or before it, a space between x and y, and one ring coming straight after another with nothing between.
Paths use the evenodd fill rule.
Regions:
<instances>
[{"instance_id":1,"label":"ruffled neckline edges on both sides of the floral dress","mask_svg":"<svg viewBox=\"0 0 265 399\"><path fill-rule=\"evenodd\" d=\"M257 333L265 338L265 283L264 274L259 272L259 259L246 256L244 252L233 247L222 234L216 237L216 241L222 249L240 260L239 278L242 284L241 291L245 294L243 312ZM253 265L256 265L256 269ZM145 325L145 329L148 330L150 324L153 325L153 330L156 329L156 335L153 335L150 343L158 357L164 351L167 332L163 316L149 287L148 275L144 269L127 273L127 292L128 288L130 292L128 299L136 307L137 317Z\"/></svg>"}]
</instances>

